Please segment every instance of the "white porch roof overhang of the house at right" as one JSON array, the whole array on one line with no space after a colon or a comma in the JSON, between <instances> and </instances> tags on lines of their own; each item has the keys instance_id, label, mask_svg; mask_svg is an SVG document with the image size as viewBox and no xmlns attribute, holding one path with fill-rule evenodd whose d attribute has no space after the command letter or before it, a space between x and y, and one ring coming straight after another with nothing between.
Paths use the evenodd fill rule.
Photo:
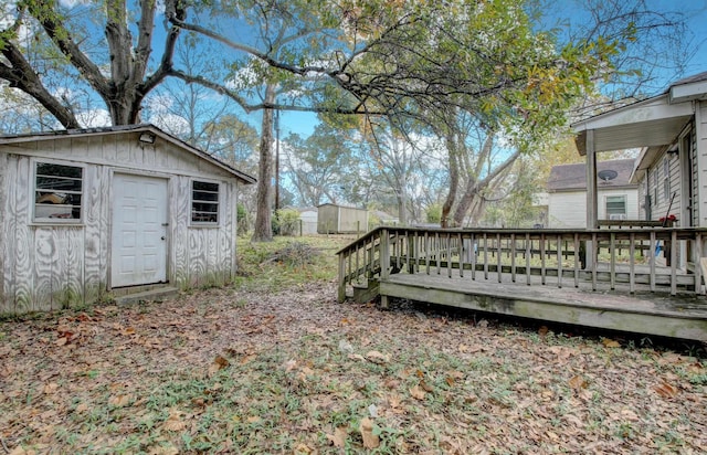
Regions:
<instances>
[{"instance_id":1,"label":"white porch roof overhang of the house at right","mask_svg":"<svg viewBox=\"0 0 707 455\"><path fill-rule=\"evenodd\" d=\"M589 130L594 131L593 151L657 147L674 142L694 113L692 102L672 104L666 93L579 121L572 128L582 156L587 155Z\"/></svg>"}]
</instances>

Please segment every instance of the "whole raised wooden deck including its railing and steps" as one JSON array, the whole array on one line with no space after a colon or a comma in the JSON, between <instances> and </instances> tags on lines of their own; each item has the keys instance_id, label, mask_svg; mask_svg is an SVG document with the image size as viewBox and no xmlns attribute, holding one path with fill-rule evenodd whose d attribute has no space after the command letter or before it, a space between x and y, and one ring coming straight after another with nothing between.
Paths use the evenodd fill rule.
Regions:
<instances>
[{"instance_id":1,"label":"whole raised wooden deck including its railing and steps","mask_svg":"<svg viewBox=\"0 0 707 455\"><path fill-rule=\"evenodd\" d=\"M696 229L383 228L339 251L339 300L351 286L359 300L380 296L383 307L390 298L405 298L707 341L700 267L679 267L677 254L692 250L701 256L705 234L707 230ZM671 265L664 257L643 256L642 252L655 251L658 242L675 245L665 257ZM597 260L582 263L587 257Z\"/></svg>"}]
</instances>

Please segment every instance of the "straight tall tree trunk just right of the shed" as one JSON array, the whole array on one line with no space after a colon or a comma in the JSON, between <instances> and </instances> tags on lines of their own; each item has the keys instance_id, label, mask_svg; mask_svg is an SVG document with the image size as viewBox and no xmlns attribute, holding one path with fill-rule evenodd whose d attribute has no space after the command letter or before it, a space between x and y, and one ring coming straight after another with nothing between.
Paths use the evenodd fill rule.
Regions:
<instances>
[{"instance_id":1,"label":"straight tall tree trunk just right of the shed","mask_svg":"<svg viewBox=\"0 0 707 455\"><path fill-rule=\"evenodd\" d=\"M275 102L274 84L265 87L265 103ZM273 200L273 109L263 110L261 126L261 160L257 170L257 209L255 213L255 230L253 242L270 242L273 240L271 219L271 203Z\"/></svg>"}]
</instances>

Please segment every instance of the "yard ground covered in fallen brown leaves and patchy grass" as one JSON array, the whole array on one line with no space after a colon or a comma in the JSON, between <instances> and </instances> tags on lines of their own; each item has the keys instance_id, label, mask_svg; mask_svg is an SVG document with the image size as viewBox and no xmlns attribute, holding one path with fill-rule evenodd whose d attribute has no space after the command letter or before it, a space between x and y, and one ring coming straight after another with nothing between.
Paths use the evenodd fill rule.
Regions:
<instances>
[{"instance_id":1,"label":"yard ground covered in fallen brown leaves and patchy grass","mask_svg":"<svg viewBox=\"0 0 707 455\"><path fill-rule=\"evenodd\" d=\"M331 275L315 269L331 267L328 258L288 265L273 260L282 248L241 252L251 265L232 287L0 322L0 451L707 446L707 363L690 356L697 350L411 303L388 311L337 304Z\"/></svg>"}]
</instances>

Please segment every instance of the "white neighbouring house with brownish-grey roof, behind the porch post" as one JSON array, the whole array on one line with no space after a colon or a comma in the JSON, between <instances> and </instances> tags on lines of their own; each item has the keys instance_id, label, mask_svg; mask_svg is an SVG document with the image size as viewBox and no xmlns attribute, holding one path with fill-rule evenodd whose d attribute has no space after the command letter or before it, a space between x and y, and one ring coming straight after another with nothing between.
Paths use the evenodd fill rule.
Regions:
<instances>
[{"instance_id":1,"label":"white neighbouring house with brownish-grey roof, behind the porch post","mask_svg":"<svg viewBox=\"0 0 707 455\"><path fill-rule=\"evenodd\" d=\"M600 220L637 220L639 186L631 182L634 159L597 163ZM547 181L548 228L587 226L587 163L558 165Z\"/></svg>"}]
</instances>

